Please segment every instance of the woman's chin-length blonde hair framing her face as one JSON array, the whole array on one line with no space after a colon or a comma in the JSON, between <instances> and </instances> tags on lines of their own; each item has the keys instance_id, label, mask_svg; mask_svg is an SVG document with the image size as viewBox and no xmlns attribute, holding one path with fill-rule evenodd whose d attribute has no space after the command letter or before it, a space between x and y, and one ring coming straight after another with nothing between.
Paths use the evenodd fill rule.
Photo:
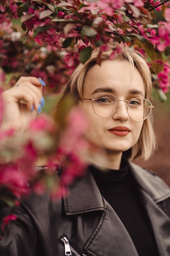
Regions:
<instances>
[{"instance_id":1,"label":"woman's chin-length blonde hair framing her face","mask_svg":"<svg viewBox=\"0 0 170 256\"><path fill-rule=\"evenodd\" d=\"M102 52L101 59L102 61L109 60L110 54L113 52L114 45L110 47L110 49L106 52ZM71 75L68 85L66 86L66 90L60 99L57 107L60 111L60 104L62 101L68 97L72 96L76 101L83 97L83 86L86 74L88 71L97 64L97 56L99 54L99 49L95 49L92 53L91 58L86 61L85 64L79 64L78 67L75 69L73 74ZM129 47L124 47L123 51L119 54L116 54L114 60L126 60L130 63L132 68L137 68L139 74L141 75L144 86L145 86L145 98L148 100L151 99L151 92L152 92L152 80L151 74L146 61L144 60L143 56L139 54L139 52L135 52L131 50ZM135 159L137 157L142 157L143 159L148 159L156 148L156 140L155 134L152 126L152 113L150 116L144 120L144 124L142 126L141 134L137 143L127 150L124 154L130 159Z\"/></svg>"}]
</instances>

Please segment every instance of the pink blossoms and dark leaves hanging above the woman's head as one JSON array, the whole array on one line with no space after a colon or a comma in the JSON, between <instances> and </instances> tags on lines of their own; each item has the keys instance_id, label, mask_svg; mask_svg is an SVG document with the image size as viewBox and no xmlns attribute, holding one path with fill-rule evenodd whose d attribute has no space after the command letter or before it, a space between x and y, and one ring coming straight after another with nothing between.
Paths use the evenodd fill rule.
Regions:
<instances>
[{"instance_id":1,"label":"pink blossoms and dark leaves hanging above the woman's head","mask_svg":"<svg viewBox=\"0 0 170 256\"><path fill-rule=\"evenodd\" d=\"M1 66L4 73L41 76L48 83L48 89L60 91L67 76L79 62L87 61L95 47L100 47L100 64L101 52L108 49L107 43L114 41L117 47L110 59L114 58L115 52L121 51L123 44L138 50L148 62L155 88L160 95L168 92L168 0L0 2ZM161 11L159 22L155 10ZM11 18L21 18L25 32L12 26ZM1 79L4 73L1 72Z\"/></svg>"}]
</instances>

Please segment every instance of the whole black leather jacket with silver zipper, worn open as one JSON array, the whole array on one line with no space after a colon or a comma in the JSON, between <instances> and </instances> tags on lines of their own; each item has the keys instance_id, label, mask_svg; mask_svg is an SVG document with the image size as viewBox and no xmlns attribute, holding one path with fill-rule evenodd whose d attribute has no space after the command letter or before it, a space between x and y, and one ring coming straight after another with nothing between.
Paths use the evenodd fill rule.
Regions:
<instances>
[{"instance_id":1,"label":"whole black leather jacket with silver zipper, worn open","mask_svg":"<svg viewBox=\"0 0 170 256\"><path fill-rule=\"evenodd\" d=\"M62 166L60 166L60 171ZM131 164L150 217L160 256L170 255L170 188L157 175ZM124 225L102 198L89 171L64 198L31 195L12 210L0 256L137 256ZM0 213L9 211L1 203ZM70 245L70 246L69 246Z\"/></svg>"}]
</instances>

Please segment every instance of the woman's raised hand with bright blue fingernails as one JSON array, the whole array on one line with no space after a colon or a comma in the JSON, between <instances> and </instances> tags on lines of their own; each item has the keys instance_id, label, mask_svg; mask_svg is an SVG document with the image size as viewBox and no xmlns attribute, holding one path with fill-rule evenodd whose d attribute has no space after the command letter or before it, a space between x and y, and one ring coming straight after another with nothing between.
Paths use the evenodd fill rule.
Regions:
<instances>
[{"instance_id":1,"label":"woman's raised hand with bright blue fingernails","mask_svg":"<svg viewBox=\"0 0 170 256\"><path fill-rule=\"evenodd\" d=\"M45 83L41 79L22 76L13 88L1 94L2 131L14 128L16 132L24 132L28 128L44 106L42 85Z\"/></svg>"}]
</instances>

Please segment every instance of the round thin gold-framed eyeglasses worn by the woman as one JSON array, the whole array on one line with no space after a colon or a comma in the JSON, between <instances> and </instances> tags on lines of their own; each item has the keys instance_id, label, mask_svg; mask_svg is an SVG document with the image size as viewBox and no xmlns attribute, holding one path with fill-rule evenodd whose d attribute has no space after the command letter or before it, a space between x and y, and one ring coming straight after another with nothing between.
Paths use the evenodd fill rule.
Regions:
<instances>
[{"instance_id":1,"label":"round thin gold-framed eyeglasses worn by the woman","mask_svg":"<svg viewBox=\"0 0 170 256\"><path fill-rule=\"evenodd\" d=\"M133 121L144 121L150 115L152 103L148 99L133 98L130 101L126 99L117 99L115 95L110 93L100 93L95 95L94 99L83 100L93 101L93 110L99 117L110 117L113 115L119 107L119 101L125 101L128 116Z\"/></svg>"}]
</instances>

